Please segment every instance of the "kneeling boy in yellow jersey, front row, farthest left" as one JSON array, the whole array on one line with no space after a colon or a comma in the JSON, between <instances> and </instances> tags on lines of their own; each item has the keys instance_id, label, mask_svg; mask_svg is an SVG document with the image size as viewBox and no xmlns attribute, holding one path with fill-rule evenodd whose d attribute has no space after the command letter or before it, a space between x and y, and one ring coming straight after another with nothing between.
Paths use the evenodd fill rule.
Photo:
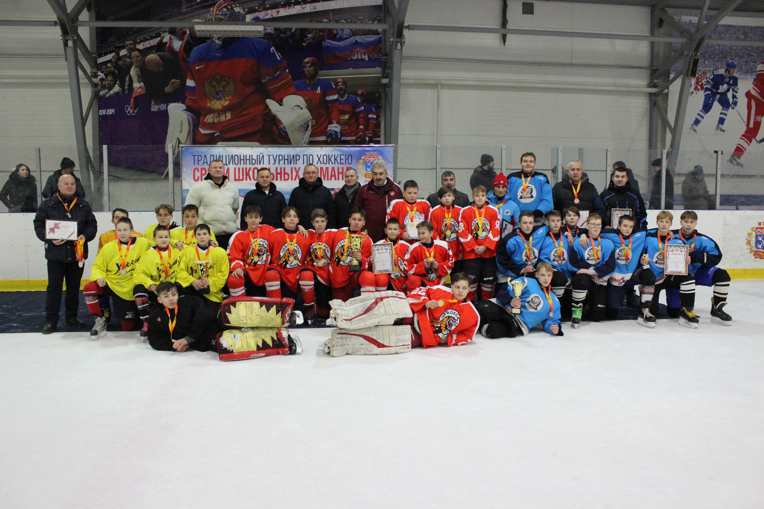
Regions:
<instances>
[{"instance_id":1,"label":"kneeling boy in yellow jersey, front row, farthest left","mask_svg":"<svg viewBox=\"0 0 764 509\"><path fill-rule=\"evenodd\" d=\"M95 318L90 336L96 340L106 333L104 317L99 297L111 298L114 316L121 321L122 330L133 330L135 320L135 299L133 297L133 272L141 255L150 249L144 237L131 237L133 222L128 217L117 221L117 240L103 246L95 256L91 282L83 288L85 302ZM108 307L108 304L105 304Z\"/></svg>"}]
</instances>

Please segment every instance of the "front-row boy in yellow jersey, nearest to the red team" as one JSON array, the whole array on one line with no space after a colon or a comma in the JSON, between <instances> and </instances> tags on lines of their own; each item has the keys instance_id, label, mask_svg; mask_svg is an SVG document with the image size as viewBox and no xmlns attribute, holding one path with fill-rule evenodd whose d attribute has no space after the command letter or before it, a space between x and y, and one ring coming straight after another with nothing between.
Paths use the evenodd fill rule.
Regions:
<instances>
[{"instance_id":1,"label":"front-row boy in yellow jersey, nearest to the red team","mask_svg":"<svg viewBox=\"0 0 764 509\"><path fill-rule=\"evenodd\" d=\"M193 233L196 246L183 250L176 282L183 286L184 295L204 297L205 304L219 311L222 288L228 281L228 254L222 247L212 246L206 224L197 224Z\"/></svg>"}]
</instances>

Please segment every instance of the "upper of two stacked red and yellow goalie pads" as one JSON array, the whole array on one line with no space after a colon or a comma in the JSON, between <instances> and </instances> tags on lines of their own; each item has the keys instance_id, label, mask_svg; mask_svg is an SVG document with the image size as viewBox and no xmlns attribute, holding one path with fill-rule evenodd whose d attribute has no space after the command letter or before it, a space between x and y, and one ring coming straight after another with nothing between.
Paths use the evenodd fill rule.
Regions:
<instances>
[{"instance_id":1,"label":"upper of two stacked red and yellow goalie pads","mask_svg":"<svg viewBox=\"0 0 764 509\"><path fill-rule=\"evenodd\" d=\"M225 327L288 327L294 299L231 297L222 303Z\"/></svg>"}]
</instances>

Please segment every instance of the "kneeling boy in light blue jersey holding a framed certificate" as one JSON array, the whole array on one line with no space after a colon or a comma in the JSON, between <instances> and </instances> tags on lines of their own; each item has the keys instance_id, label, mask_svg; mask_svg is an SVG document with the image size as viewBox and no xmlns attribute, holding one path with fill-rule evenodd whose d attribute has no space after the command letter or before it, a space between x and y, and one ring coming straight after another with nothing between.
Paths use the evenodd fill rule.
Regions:
<instances>
[{"instance_id":1,"label":"kneeling boy in light blue jersey holding a framed certificate","mask_svg":"<svg viewBox=\"0 0 764 509\"><path fill-rule=\"evenodd\" d=\"M658 300L662 290L678 289L679 302L678 307L669 300L666 311L669 317L679 318L679 325L691 329L698 327L698 317L694 314L695 308L695 280L689 275L665 275L665 250L669 244L681 244L678 238L669 239L671 234L671 225L674 222L674 215L669 211L660 211L656 217L657 230L649 230L645 240L645 249L649 261L650 270L656 275L656 289L652 295L652 304L650 304L650 313L653 316L658 314ZM687 263L691 263L691 257L687 257Z\"/></svg>"}]
</instances>

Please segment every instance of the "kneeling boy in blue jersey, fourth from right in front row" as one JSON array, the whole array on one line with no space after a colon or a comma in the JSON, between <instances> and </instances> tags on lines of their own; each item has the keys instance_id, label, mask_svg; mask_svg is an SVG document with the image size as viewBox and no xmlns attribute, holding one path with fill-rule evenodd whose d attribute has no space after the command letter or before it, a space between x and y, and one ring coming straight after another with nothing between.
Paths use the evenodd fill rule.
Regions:
<instances>
[{"instance_id":1,"label":"kneeling boy in blue jersey, fourth from right in front row","mask_svg":"<svg viewBox=\"0 0 764 509\"><path fill-rule=\"evenodd\" d=\"M571 327L578 329L584 300L589 298L589 320L601 321L605 316L607 303L607 276L616 268L615 246L610 240L600 237L602 217L596 212L589 214L588 246L574 242L570 264L578 269L573 276L573 303L571 304Z\"/></svg>"}]
</instances>

